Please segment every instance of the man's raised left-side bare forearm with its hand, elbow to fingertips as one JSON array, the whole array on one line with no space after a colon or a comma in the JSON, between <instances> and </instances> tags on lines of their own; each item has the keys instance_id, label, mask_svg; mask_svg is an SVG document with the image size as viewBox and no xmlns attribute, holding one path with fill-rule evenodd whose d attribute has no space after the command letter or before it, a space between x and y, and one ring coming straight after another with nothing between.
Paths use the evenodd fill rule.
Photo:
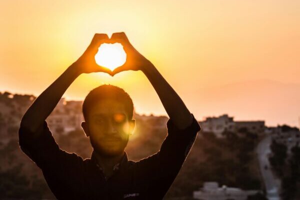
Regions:
<instances>
[{"instance_id":1,"label":"man's raised left-side bare forearm with its hand, elbow to fingertips","mask_svg":"<svg viewBox=\"0 0 300 200\"><path fill-rule=\"evenodd\" d=\"M81 73L97 71L110 73L109 69L98 66L94 60L99 45L107 40L106 34L96 33L84 53L34 100L23 115L20 126L27 128L30 132L40 132L37 130L42 128L43 121L76 77Z\"/></svg>"}]
</instances>

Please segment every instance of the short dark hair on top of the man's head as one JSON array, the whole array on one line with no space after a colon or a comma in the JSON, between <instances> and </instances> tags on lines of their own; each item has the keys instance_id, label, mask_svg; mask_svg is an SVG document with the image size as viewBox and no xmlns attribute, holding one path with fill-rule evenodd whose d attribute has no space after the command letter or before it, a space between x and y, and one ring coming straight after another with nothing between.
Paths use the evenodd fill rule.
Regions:
<instances>
[{"instance_id":1,"label":"short dark hair on top of the man's head","mask_svg":"<svg viewBox=\"0 0 300 200\"><path fill-rule=\"evenodd\" d=\"M82 104L82 113L84 120L87 120L87 113L93 104L106 99L121 102L124 105L125 111L128 115L128 119L132 119L133 102L129 94L120 87L111 84L103 84L92 89L85 96Z\"/></svg>"}]
</instances>

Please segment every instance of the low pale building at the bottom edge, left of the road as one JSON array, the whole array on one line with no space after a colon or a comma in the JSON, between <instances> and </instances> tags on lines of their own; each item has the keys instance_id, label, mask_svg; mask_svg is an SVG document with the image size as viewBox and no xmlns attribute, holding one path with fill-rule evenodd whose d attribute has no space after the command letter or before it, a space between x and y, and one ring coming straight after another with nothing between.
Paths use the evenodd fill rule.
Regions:
<instances>
[{"instance_id":1,"label":"low pale building at the bottom edge, left of the road","mask_svg":"<svg viewBox=\"0 0 300 200\"><path fill-rule=\"evenodd\" d=\"M242 190L236 187L218 186L217 182L204 182L203 187L193 191L194 199L201 200L246 200L249 195L254 195L258 190Z\"/></svg>"}]
</instances>

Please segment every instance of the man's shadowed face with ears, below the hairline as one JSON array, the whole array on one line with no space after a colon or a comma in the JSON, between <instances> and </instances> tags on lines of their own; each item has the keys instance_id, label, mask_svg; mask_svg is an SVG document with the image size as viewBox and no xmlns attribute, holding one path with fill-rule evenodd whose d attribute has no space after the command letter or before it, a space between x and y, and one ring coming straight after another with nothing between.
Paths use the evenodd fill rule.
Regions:
<instances>
[{"instance_id":1,"label":"man's shadowed face with ears, below the hairline","mask_svg":"<svg viewBox=\"0 0 300 200\"><path fill-rule=\"evenodd\" d=\"M134 120L128 120L122 103L107 99L95 103L88 110L82 127L94 150L113 156L124 151L134 128Z\"/></svg>"}]
</instances>

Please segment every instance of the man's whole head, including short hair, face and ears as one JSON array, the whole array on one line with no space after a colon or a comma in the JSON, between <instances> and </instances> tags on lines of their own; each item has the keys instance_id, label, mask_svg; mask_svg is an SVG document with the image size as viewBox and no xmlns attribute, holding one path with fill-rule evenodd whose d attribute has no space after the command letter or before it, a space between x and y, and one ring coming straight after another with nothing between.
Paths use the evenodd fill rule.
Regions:
<instances>
[{"instance_id":1,"label":"man's whole head, including short hair, face and ears","mask_svg":"<svg viewBox=\"0 0 300 200\"><path fill-rule=\"evenodd\" d=\"M95 151L105 156L123 153L134 128L130 96L113 85L92 89L82 105L81 126Z\"/></svg>"}]
</instances>

